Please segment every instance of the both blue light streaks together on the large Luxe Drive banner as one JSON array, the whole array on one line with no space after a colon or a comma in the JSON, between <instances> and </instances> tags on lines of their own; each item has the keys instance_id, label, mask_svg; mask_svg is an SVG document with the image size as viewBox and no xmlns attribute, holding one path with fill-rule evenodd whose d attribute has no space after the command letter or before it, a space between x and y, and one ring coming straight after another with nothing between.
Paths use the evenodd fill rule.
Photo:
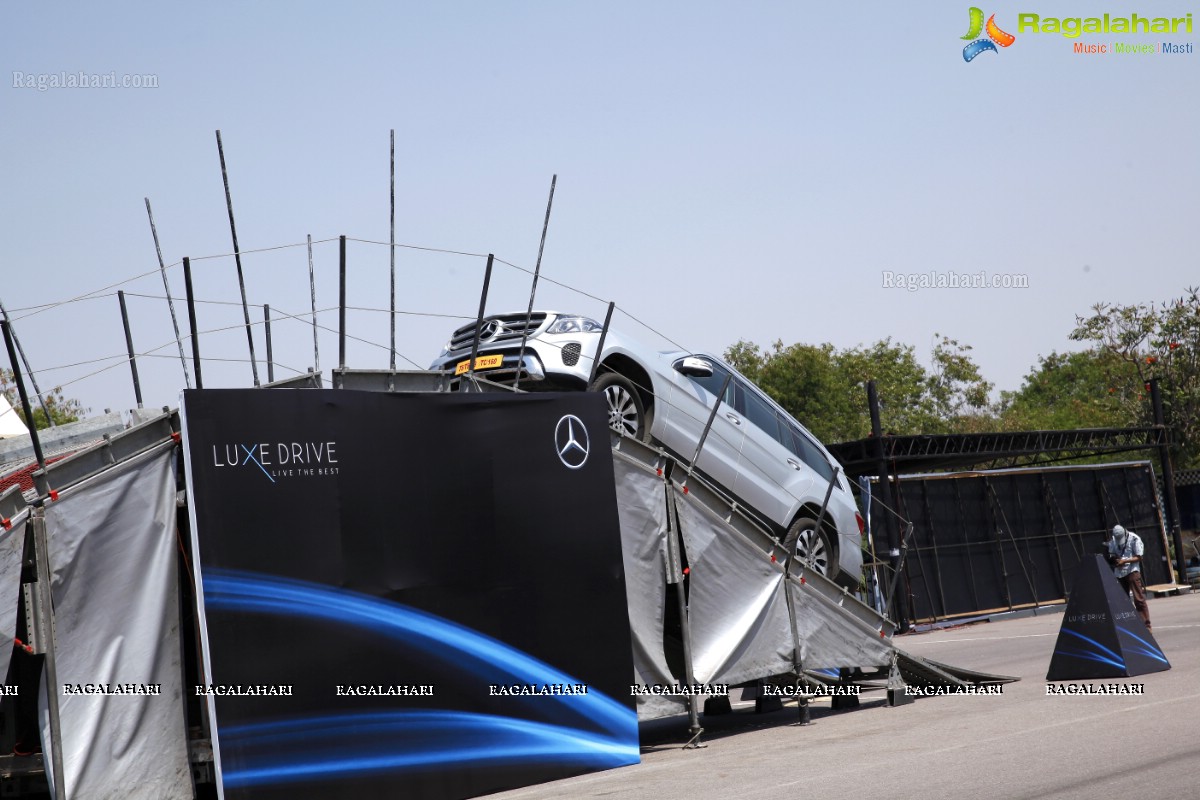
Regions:
<instances>
[{"instance_id":1,"label":"both blue light streaks together on the large Luxe Drive banner","mask_svg":"<svg viewBox=\"0 0 1200 800\"><path fill-rule=\"evenodd\" d=\"M486 682L582 682L457 622L334 587L209 570L204 573L204 604L214 610L319 619L370 630ZM590 686L587 694L532 699L536 702L527 708L550 711L554 723L433 710L366 711L220 727L220 740L245 754L245 765L223 770L223 781L227 787L257 786L449 763L552 763L590 769L637 763L637 714L632 709ZM600 732L562 724L564 720L599 727ZM289 746L281 747L284 741Z\"/></svg>"}]
</instances>

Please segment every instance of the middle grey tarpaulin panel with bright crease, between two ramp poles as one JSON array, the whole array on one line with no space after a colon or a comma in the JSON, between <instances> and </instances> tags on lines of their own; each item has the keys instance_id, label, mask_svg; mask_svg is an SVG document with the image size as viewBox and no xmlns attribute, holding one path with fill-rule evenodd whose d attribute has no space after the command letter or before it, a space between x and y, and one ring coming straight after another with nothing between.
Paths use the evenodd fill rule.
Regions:
<instances>
[{"instance_id":1,"label":"middle grey tarpaulin panel with bright crease, between two ramp poles","mask_svg":"<svg viewBox=\"0 0 1200 800\"><path fill-rule=\"evenodd\" d=\"M784 567L673 489L690 566L688 620L700 684L740 684L792 669Z\"/></svg>"}]
</instances>

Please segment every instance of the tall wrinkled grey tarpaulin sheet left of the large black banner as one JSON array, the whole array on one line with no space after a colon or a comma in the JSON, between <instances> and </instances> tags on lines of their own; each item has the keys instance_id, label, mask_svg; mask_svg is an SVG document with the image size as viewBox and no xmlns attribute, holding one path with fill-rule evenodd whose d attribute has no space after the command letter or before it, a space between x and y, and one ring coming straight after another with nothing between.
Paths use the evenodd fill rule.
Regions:
<instances>
[{"instance_id":1,"label":"tall wrinkled grey tarpaulin sheet left of the large black banner","mask_svg":"<svg viewBox=\"0 0 1200 800\"><path fill-rule=\"evenodd\" d=\"M173 446L46 506L66 800L193 796L180 668ZM160 685L161 694L64 692ZM44 698L43 698L44 703ZM44 715L43 715L43 718ZM49 763L49 730L42 744ZM47 768L47 774L50 770Z\"/></svg>"}]
</instances>

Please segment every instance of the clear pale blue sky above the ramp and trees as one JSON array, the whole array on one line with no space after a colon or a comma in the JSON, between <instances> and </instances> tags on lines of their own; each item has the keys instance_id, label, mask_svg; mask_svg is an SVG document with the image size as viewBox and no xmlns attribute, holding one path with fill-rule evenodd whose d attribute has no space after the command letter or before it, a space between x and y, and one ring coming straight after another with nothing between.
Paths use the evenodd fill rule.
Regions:
<instances>
[{"instance_id":1,"label":"clear pale blue sky above the ramp and trees","mask_svg":"<svg viewBox=\"0 0 1200 800\"><path fill-rule=\"evenodd\" d=\"M1006 4L1008 5L1008 4ZM1182 17L1184 2L983 7L1016 41L967 64L970 5L860 2L5 4L0 24L0 300L43 387L100 411L133 392L118 301L29 315L138 275L163 294L154 205L186 331L184 255L232 251L220 128L244 249L338 234L386 242L396 131L398 242L494 252L532 267L551 176L547 279L618 306L694 350L738 339L883 337L928 359L935 332L974 348L997 389L1078 347L1094 302L1162 301L1200 283L1200 53L1073 53L1198 36L1018 30L1042 17ZM47 89L60 73L157 88ZM244 258L250 301L310 308L304 247ZM337 247L316 247L318 306ZM388 308L388 251L350 242L350 303ZM194 264L200 299L234 302L232 259ZM473 315L484 259L397 254L398 365L425 367ZM883 285L883 272L1027 276L1024 289ZM488 311L523 309L500 266ZM164 302L128 297L146 404L182 373ZM605 302L542 281L541 307ZM260 309L253 320L260 320ZM204 330L236 306L203 305ZM336 329L336 311L319 321ZM388 366L388 323L352 312L350 366ZM272 327L276 377L312 366L307 325ZM185 343L186 345L186 343ZM262 326L256 347L264 356ZM320 366L337 359L323 332ZM250 384L244 331L202 337L206 386ZM188 351L190 353L190 351ZM6 357L0 361L7 363ZM107 371L89 375L103 367ZM62 367L62 368L60 368ZM265 379L265 367L260 367Z\"/></svg>"}]
</instances>

